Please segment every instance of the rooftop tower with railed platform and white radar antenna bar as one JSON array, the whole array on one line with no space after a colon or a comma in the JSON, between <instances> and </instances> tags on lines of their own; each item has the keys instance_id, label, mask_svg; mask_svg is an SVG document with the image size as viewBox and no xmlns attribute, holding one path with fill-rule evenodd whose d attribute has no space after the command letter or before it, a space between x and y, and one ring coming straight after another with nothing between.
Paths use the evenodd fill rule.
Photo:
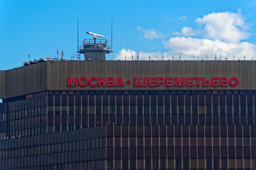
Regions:
<instances>
[{"instance_id":1,"label":"rooftop tower with railed platform and white radar antenna bar","mask_svg":"<svg viewBox=\"0 0 256 170\"><path fill-rule=\"evenodd\" d=\"M106 60L106 53L111 53L107 39L93 32L86 32L93 35L93 39L84 39L83 45L79 47L78 53L84 53L84 60ZM96 39L99 37L100 39Z\"/></svg>"}]
</instances>

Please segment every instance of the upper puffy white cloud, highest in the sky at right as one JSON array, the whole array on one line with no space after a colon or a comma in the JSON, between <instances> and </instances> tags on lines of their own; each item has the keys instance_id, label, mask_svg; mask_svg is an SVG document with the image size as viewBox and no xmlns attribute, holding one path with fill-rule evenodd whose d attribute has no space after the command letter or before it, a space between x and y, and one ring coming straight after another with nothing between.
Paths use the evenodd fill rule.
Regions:
<instances>
[{"instance_id":1,"label":"upper puffy white cloud, highest in the sky at right","mask_svg":"<svg viewBox=\"0 0 256 170\"><path fill-rule=\"evenodd\" d=\"M239 12L210 13L203 18L196 18L196 23L204 25L205 38L238 43L250 36L249 25Z\"/></svg>"}]
</instances>

